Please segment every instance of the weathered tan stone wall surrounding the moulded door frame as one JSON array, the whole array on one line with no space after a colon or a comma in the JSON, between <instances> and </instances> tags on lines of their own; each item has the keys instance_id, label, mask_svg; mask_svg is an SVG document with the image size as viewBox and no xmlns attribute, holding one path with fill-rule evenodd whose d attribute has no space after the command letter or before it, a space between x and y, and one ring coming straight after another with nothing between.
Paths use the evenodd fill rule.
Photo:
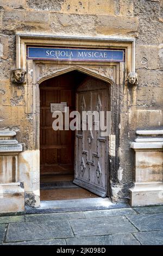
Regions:
<instances>
[{"instance_id":1,"label":"weathered tan stone wall surrounding the moulded door frame","mask_svg":"<svg viewBox=\"0 0 163 256\"><path fill-rule=\"evenodd\" d=\"M121 95L120 168L118 184L112 184L113 199L128 198L134 179L130 141L134 141L135 130L163 125L162 8L162 0L0 0L0 128L15 130L30 157L30 150L35 150L32 115L26 113L24 87L10 83L16 62L16 33L132 36L136 39L139 84ZM28 174L22 168L22 172L24 177L34 175L34 170Z\"/></svg>"}]
</instances>

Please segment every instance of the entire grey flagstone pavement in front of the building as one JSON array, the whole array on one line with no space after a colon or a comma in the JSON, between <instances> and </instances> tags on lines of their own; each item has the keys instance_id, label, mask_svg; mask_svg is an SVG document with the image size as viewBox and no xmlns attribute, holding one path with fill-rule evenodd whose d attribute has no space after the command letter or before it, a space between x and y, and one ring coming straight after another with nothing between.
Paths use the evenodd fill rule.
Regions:
<instances>
[{"instance_id":1,"label":"entire grey flagstone pavement in front of the building","mask_svg":"<svg viewBox=\"0 0 163 256\"><path fill-rule=\"evenodd\" d=\"M0 217L1 245L163 245L163 205Z\"/></svg>"}]
</instances>

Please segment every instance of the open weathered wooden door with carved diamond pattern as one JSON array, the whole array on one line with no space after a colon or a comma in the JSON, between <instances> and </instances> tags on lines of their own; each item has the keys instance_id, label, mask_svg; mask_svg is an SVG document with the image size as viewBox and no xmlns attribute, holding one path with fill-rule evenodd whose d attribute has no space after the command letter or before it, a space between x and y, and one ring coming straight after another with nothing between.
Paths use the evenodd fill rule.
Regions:
<instances>
[{"instance_id":1,"label":"open weathered wooden door with carved diamond pattern","mask_svg":"<svg viewBox=\"0 0 163 256\"><path fill-rule=\"evenodd\" d=\"M82 111L109 110L108 84L87 77L77 89L76 107ZM82 120L87 123L86 120ZM108 195L108 138L101 131L76 132L76 161L74 183L101 196Z\"/></svg>"}]
</instances>

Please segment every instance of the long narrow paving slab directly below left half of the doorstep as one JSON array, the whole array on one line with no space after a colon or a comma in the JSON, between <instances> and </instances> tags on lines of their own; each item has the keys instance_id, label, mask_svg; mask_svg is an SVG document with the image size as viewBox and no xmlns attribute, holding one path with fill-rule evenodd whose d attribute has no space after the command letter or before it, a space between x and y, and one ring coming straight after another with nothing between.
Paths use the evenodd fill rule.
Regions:
<instances>
[{"instance_id":1,"label":"long narrow paving slab directly below left half of the doorstep","mask_svg":"<svg viewBox=\"0 0 163 256\"><path fill-rule=\"evenodd\" d=\"M26 215L26 222L30 221L58 221L71 218L85 218L83 212L60 212L58 214L31 214Z\"/></svg>"}]
</instances>

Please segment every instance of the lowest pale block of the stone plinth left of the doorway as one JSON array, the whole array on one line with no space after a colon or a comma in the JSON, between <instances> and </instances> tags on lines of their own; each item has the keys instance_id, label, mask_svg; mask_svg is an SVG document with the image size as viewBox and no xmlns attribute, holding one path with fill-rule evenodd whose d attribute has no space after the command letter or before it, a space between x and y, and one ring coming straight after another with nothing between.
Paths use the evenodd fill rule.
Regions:
<instances>
[{"instance_id":1,"label":"lowest pale block of the stone plinth left of the doorway","mask_svg":"<svg viewBox=\"0 0 163 256\"><path fill-rule=\"evenodd\" d=\"M0 214L24 211L24 188L21 182L0 184Z\"/></svg>"}]
</instances>

